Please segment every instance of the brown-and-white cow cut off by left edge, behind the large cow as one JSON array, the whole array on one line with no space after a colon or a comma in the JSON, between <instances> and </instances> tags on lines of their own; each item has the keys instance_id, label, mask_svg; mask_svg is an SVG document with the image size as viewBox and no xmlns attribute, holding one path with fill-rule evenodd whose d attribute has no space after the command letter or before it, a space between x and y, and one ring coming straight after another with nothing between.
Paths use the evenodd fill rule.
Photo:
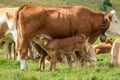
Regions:
<instances>
[{"instance_id":1,"label":"brown-and-white cow cut off by left edge, behind the large cow","mask_svg":"<svg viewBox=\"0 0 120 80\"><path fill-rule=\"evenodd\" d=\"M14 50L14 42L17 41L17 31L14 23L17 9L18 8L0 8L0 44L4 43L5 45L6 59L11 58L10 48L13 46L12 50Z\"/></svg>"}]
</instances>

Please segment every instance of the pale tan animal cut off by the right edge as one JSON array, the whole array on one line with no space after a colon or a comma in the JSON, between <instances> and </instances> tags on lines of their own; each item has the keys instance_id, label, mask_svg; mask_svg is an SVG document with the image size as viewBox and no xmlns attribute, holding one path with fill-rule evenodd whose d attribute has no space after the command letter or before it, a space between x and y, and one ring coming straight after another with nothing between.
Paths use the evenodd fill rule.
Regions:
<instances>
[{"instance_id":1,"label":"pale tan animal cut off by the right edge","mask_svg":"<svg viewBox=\"0 0 120 80\"><path fill-rule=\"evenodd\" d=\"M120 39L116 39L111 49L112 64L120 66Z\"/></svg>"}]
</instances>

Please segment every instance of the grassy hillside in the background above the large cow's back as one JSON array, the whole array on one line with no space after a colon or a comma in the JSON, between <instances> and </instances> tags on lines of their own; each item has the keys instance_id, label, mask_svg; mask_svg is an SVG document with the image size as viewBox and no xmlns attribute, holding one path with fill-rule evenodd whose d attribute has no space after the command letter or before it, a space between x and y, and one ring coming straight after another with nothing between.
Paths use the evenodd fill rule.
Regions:
<instances>
[{"instance_id":1,"label":"grassy hillside in the background above the large cow's back","mask_svg":"<svg viewBox=\"0 0 120 80\"><path fill-rule=\"evenodd\" d=\"M104 0L0 0L0 7L18 7L21 4L32 4L39 6L74 6L83 5L90 9L100 11ZM120 0L110 0L112 7L108 11L115 9L120 18Z\"/></svg>"}]
</instances>

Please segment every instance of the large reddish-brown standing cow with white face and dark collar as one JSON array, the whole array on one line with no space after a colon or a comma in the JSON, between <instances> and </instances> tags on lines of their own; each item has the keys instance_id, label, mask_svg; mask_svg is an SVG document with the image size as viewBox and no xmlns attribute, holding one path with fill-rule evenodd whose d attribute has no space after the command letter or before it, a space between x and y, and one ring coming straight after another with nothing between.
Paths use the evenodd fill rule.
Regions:
<instances>
[{"instance_id":1,"label":"large reddish-brown standing cow with white face and dark collar","mask_svg":"<svg viewBox=\"0 0 120 80\"><path fill-rule=\"evenodd\" d=\"M51 38L66 38L84 34L89 43L94 43L99 35L105 40L105 31L110 22L117 22L116 12L91 11L82 6L41 7L22 5L16 13L18 32L17 50L21 56L21 69L27 69L26 55L31 39L39 34Z\"/></svg>"}]
</instances>

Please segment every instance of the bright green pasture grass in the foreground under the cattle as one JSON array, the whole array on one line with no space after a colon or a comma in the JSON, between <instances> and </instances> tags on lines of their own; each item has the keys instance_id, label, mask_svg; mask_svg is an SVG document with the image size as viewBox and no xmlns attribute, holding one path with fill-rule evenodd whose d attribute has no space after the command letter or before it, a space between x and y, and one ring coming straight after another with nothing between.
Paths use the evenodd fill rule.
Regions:
<instances>
[{"instance_id":1,"label":"bright green pasture grass in the foreground under the cattle","mask_svg":"<svg viewBox=\"0 0 120 80\"><path fill-rule=\"evenodd\" d=\"M113 41L118 37L113 37ZM99 43L99 39L95 44ZM120 80L120 68L112 65L111 54L96 55L98 61L95 66L88 63L88 67L78 68L74 62L74 68L68 69L67 64L58 63L55 72L49 71L46 64L44 71L38 70L38 60L28 60L29 69L21 71L19 62L5 60L4 52L0 50L0 80Z\"/></svg>"}]
</instances>

